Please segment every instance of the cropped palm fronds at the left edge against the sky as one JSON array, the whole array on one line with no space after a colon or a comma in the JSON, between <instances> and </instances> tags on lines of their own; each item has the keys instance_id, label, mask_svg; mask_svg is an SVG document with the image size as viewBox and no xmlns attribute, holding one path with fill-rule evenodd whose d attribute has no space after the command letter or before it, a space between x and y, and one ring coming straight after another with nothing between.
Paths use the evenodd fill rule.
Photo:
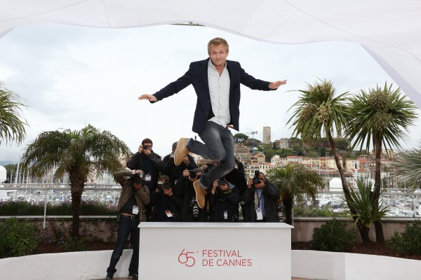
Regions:
<instances>
[{"instance_id":1,"label":"cropped palm fronds at the left edge against the sky","mask_svg":"<svg viewBox=\"0 0 421 280\"><path fill-rule=\"evenodd\" d=\"M19 99L19 95L4 87L0 80L0 144L1 141L21 144L25 139L28 124L22 116L22 107L26 106Z\"/></svg>"}]
</instances>

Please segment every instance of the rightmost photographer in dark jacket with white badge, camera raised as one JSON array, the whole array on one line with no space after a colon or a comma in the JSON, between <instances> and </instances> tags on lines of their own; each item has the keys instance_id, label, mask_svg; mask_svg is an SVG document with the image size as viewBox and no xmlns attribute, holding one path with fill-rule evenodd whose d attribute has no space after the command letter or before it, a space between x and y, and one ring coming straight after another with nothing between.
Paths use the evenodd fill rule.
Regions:
<instances>
[{"instance_id":1,"label":"rightmost photographer in dark jacket with white badge, camera raised","mask_svg":"<svg viewBox=\"0 0 421 280\"><path fill-rule=\"evenodd\" d=\"M278 188L265 178L265 174L256 171L253 179L248 180L248 186L241 197L244 222L279 222L276 211L279 195Z\"/></svg>"}]
</instances>

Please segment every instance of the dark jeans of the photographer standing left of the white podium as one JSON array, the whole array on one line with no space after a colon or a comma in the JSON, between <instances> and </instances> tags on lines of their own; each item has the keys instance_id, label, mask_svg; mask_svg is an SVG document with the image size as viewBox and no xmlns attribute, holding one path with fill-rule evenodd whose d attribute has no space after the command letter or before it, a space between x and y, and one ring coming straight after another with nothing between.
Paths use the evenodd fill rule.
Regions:
<instances>
[{"instance_id":1,"label":"dark jeans of the photographer standing left of the white podium","mask_svg":"<svg viewBox=\"0 0 421 280\"><path fill-rule=\"evenodd\" d=\"M121 254L123 253L124 247L128 236L131 235L131 241L133 241L133 254L130 265L128 266L128 272L138 272L139 268L139 220L137 217L121 216L119 227L117 228L117 244L112 251L111 260L109 261L109 267L107 268L107 274L114 275L116 273L116 265L119 262Z\"/></svg>"}]
</instances>

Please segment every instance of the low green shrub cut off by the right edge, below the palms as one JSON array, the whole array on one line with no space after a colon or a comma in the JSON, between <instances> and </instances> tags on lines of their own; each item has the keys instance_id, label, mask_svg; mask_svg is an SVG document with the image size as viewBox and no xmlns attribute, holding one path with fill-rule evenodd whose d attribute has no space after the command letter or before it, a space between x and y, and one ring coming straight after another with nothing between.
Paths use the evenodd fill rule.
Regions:
<instances>
[{"instance_id":1,"label":"low green shrub cut off by the right edge, below the palms","mask_svg":"<svg viewBox=\"0 0 421 280\"><path fill-rule=\"evenodd\" d=\"M395 232L386 246L394 253L421 255L421 221L405 225L402 233Z\"/></svg>"}]
</instances>

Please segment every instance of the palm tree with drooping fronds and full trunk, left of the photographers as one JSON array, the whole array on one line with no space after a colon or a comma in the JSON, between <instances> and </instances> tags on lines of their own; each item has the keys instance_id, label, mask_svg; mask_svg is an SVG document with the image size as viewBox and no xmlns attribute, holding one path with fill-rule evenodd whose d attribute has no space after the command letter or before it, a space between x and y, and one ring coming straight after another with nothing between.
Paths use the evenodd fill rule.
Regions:
<instances>
[{"instance_id":1,"label":"palm tree with drooping fronds and full trunk, left of the photographers","mask_svg":"<svg viewBox=\"0 0 421 280\"><path fill-rule=\"evenodd\" d=\"M100 131L92 125L80 131L55 130L42 132L22 157L22 167L31 176L41 178L55 169L54 179L69 176L72 193L72 237L79 237L79 209L83 188L94 172L101 175L121 169L120 155L130 150L108 131Z\"/></svg>"}]
</instances>

